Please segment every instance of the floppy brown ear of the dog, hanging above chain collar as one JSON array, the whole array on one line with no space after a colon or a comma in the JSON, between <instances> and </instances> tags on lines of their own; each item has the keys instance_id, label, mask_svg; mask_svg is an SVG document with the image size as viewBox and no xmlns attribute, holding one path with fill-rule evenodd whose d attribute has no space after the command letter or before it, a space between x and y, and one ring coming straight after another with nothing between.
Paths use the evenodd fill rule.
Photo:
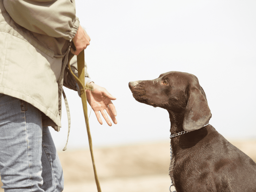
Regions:
<instances>
[{"instance_id":1,"label":"floppy brown ear of the dog, hanging above chain collar","mask_svg":"<svg viewBox=\"0 0 256 192\"><path fill-rule=\"evenodd\" d=\"M188 132L200 129L209 123L211 117L210 108L202 92L195 87L189 89L183 129Z\"/></svg>"}]
</instances>

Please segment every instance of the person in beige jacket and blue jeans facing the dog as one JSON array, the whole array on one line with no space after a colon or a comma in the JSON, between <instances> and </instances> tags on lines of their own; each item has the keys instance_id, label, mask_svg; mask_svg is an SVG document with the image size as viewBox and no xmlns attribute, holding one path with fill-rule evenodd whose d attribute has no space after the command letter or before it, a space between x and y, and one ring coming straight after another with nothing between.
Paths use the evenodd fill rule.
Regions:
<instances>
[{"instance_id":1,"label":"person in beige jacket and blue jeans facing the dog","mask_svg":"<svg viewBox=\"0 0 256 192\"><path fill-rule=\"evenodd\" d=\"M0 1L0 173L5 192L63 190L48 126L60 131L63 85L77 91L68 53L78 55L89 44L75 0ZM75 57L70 64L77 75ZM85 81L93 87L91 93L86 90L88 103L100 124L99 111L112 125L105 109L116 124L111 102L116 98L94 84L86 69L85 64Z\"/></svg>"}]
</instances>

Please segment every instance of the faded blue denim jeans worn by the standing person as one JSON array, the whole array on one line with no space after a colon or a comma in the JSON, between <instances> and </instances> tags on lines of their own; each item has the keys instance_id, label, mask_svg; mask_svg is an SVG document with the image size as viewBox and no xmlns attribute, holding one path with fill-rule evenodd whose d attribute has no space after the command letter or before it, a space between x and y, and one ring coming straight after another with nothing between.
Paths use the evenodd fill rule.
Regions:
<instances>
[{"instance_id":1,"label":"faded blue denim jeans worn by the standing person","mask_svg":"<svg viewBox=\"0 0 256 192\"><path fill-rule=\"evenodd\" d=\"M0 174L5 192L59 192L64 178L41 112L0 93Z\"/></svg>"}]
</instances>

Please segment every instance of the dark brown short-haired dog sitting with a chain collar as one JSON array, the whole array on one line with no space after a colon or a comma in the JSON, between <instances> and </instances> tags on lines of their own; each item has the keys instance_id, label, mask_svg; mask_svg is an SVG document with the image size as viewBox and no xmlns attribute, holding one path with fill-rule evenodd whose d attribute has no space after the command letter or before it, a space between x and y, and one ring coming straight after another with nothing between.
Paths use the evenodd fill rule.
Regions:
<instances>
[{"instance_id":1,"label":"dark brown short-haired dog sitting with a chain collar","mask_svg":"<svg viewBox=\"0 0 256 192\"><path fill-rule=\"evenodd\" d=\"M135 100L169 113L177 192L256 192L256 163L208 124L212 114L196 76L171 71L129 88Z\"/></svg>"}]
</instances>

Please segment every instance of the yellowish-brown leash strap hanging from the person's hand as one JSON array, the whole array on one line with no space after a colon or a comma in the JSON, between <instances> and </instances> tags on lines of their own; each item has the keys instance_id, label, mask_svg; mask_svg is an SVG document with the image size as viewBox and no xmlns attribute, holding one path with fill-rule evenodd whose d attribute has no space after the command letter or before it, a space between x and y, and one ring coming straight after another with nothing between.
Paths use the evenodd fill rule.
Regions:
<instances>
[{"instance_id":1,"label":"yellowish-brown leash strap hanging from the person's hand","mask_svg":"<svg viewBox=\"0 0 256 192\"><path fill-rule=\"evenodd\" d=\"M86 93L85 89L92 90L92 86L84 85L84 50L77 55L77 69L78 69L78 78L76 75L73 73L73 71L70 68L70 60L74 56L73 53L69 52L68 54L68 69L70 73L74 76L76 79L77 84L79 85L80 88L80 96L82 99L82 104L83 104L83 109L84 109L84 118L85 118L85 124L86 124L86 129L87 129L87 134L88 134L88 140L89 140L89 146L90 146L90 151L91 151L91 156L92 156L92 165L93 165L93 171L94 171L94 177L97 185L98 192L101 192L100 189L100 183L98 180L97 172L96 172L96 167L94 163L94 157L93 157L93 152L92 152L92 137L90 133L90 127L89 127L89 122L88 122L88 114L87 114L87 100L86 100Z\"/></svg>"}]
</instances>

